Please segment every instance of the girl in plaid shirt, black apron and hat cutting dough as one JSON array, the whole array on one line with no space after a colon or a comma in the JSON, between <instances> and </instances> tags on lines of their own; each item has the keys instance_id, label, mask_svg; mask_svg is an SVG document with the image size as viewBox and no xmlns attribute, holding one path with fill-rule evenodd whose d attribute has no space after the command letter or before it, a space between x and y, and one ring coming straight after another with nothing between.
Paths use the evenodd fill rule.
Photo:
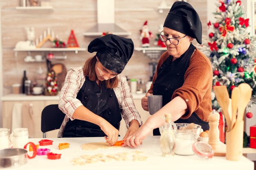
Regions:
<instances>
[{"instance_id":1,"label":"girl in plaid shirt, black apron and hat cutting dough","mask_svg":"<svg viewBox=\"0 0 256 170\"><path fill-rule=\"evenodd\" d=\"M112 34L90 42L88 51L96 55L83 67L70 68L61 89L58 106L66 116L58 137L105 137L114 145L121 116L128 128L124 138L136 132L142 121L120 74L133 49L131 39Z\"/></svg>"}]
</instances>

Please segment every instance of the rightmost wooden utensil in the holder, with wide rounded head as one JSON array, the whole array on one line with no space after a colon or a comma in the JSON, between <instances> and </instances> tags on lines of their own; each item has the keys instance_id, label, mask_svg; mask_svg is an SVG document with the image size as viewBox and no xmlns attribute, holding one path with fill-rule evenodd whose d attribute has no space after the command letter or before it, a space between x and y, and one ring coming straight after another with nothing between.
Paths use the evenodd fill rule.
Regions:
<instances>
[{"instance_id":1,"label":"rightmost wooden utensil in the holder, with wide rounded head","mask_svg":"<svg viewBox=\"0 0 256 170\"><path fill-rule=\"evenodd\" d=\"M244 118L245 108L252 97L252 88L249 84L239 84L240 99L238 103L237 121L242 121Z\"/></svg>"}]
</instances>

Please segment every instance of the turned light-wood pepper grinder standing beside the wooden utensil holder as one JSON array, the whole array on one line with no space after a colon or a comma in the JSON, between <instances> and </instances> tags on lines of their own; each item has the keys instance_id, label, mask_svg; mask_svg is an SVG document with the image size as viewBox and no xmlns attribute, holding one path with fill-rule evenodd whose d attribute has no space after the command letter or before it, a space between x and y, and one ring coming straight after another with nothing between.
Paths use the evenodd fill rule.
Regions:
<instances>
[{"instance_id":1,"label":"turned light-wood pepper grinder standing beside the wooden utensil holder","mask_svg":"<svg viewBox=\"0 0 256 170\"><path fill-rule=\"evenodd\" d=\"M213 112L208 116L209 120L209 141L208 144L211 145L213 150L217 150L220 142L220 131L219 131L219 120L220 114L213 110Z\"/></svg>"}]
</instances>

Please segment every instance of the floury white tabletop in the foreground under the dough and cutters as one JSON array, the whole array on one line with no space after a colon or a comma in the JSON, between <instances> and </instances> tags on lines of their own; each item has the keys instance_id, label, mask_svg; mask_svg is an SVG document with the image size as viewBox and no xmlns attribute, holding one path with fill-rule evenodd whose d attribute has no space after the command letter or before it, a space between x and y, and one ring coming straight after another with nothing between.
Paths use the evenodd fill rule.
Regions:
<instances>
[{"instance_id":1,"label":"floury white tabletop in the foreground under the dough and cutters","mask_svg":"<svg viewBox=\"0 0 256 170\"><path fill-rule=\"evenodd\" d=\"M29 141L38 144L41 139L31 138ZM61 159L50 160L47 156L36 156L34 159L29 159L27 164L16 167L15 170L254 170L254 163L249 159L242 157L240 161L228 161L225 157L213 157L212 159L203 159L197 155L173 157L162 157L160 150L159 136L149 136L143 144L136 149L113 147L99 150L82 150L81 144L90 142L103 142L103 137L88 137L88 138L50 138L53 140L53 145L40 146L40 148L49 148L51 152L61 154ZM58 144L67 142L70 148L58 150ZM135 150L142 151L141 155L147 157L146 161L106 161L90 163L86 165L72 164L72 160L81 155L95 155L102 153L104 155L117 154L119 152L132 152ZM30 153L29 153L30 154ZM9 170L14 168L5 168Z\"/></svg>"}]
</instances>

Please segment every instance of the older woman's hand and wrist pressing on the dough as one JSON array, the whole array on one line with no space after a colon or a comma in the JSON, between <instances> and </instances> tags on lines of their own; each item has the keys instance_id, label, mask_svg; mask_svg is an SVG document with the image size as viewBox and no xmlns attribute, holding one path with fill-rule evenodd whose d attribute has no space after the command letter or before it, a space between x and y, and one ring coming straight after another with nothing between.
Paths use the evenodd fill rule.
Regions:
<instances>
[{"instance_id":1,"label":"older woman's hand and wrist pressing on the dough","mask_svg":"<svg viewBox=\"0 0 256 170\"><path fill-rule=\"evenodd\" d=\"M128 136L126 140L124 140L124 144L122 147L129 146L131 148L136 148L137 146L142 144L142 140L144 140L150 132L152 132L152 128L147 126L147 124L143 124L137 132Z\"/></svg>"}]
</instances>

